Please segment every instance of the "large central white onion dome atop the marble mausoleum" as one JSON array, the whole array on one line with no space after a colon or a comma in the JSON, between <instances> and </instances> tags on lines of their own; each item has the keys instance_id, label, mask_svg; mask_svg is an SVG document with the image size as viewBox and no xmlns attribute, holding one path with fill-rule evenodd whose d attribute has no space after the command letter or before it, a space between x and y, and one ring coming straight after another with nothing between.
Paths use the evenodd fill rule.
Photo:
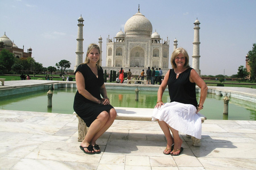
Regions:
<instances>
[{"instance_id":1,"label":"large central white onion dome atop the marble mausoleum","mask_svg":"<svg viewBox=\"0 0 256 170\"><path fill-rule=\"evenodd\" d=\"M148 37L152 32L151 22L138 11L124 25L126 37Z\"/></svg>"}]
</instances>

